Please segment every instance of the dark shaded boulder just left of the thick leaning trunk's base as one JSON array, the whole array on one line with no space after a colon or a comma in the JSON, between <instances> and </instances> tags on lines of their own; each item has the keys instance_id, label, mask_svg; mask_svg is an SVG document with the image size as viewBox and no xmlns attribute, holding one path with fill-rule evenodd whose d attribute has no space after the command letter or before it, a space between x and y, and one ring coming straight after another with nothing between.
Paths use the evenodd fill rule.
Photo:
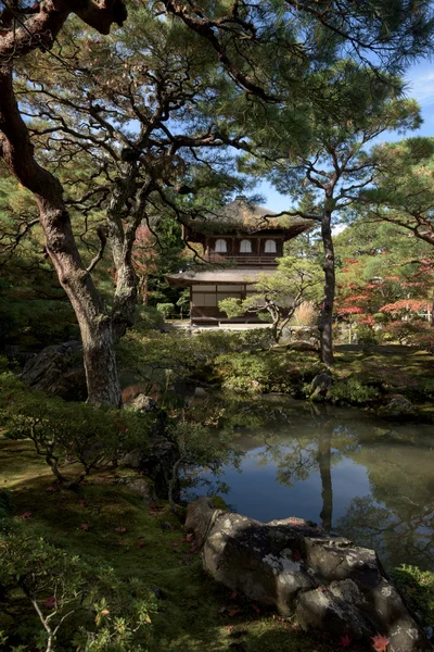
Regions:
<instances>
[{"instance_id":1,"label":"dark shaded boulder just left of the thick leaning trunk's base","mask_svg":"<svg viewBox=\"0 0 434 652\"><path fill-rule=\"evenodd\" d=\"M73 340L42 349L27 361L21 378L29 387L65 401L85 401L88 391L81 343Z\"/></svg>"}]
</instances>

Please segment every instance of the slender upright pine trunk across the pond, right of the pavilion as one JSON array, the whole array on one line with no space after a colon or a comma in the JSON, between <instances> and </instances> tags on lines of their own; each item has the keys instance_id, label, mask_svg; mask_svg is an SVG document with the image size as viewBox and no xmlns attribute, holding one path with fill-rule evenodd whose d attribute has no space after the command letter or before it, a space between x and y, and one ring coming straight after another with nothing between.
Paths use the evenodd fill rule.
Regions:
<instances>
[{"instance_id":1,"label":"slender upright pine trunk across the pond, right of the pavilion","mask_svg":"<svg viewBox=\"0 0 434 652\"><path fill-rule=\"evenodd\" d=\"M333 365L333 305L335 292L334 247L331 229L332 212L324 210L321 221L321 238L324 252L324 298L319 322L321 360L328 366Z\"/></svg>"}]
</instances>

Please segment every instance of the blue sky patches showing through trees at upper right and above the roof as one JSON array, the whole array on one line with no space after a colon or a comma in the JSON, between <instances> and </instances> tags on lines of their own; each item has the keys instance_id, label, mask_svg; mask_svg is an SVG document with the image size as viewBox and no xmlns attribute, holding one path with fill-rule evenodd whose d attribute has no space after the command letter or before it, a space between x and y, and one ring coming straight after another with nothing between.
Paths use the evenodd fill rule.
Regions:
<instances>
[{"instance_id":1,"label":"blue sky patches showing through trees at upper right and above the roof","mask_svg":"<svg viewBox=\"0 0 434 652\"><path fill-rule=\"evenodd\" d=\"M410 66L405 75L407 82L406 96L418 100L421 106L423 124L416 131L408 131L407 136L434 136L434 64L423 60ZM385 134L382 140L401 140L403 135ZM267 181L257 189L266 198L264 205L270 211L280 212L291 206L291 201L277 192Z\"/></svg>"}]
</instances>

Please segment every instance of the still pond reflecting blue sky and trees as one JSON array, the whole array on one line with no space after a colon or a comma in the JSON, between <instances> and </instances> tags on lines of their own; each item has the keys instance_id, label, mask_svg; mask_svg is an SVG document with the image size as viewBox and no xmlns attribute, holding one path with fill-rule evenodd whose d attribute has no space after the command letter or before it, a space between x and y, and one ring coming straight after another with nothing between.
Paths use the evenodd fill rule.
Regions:
<instances>
[{"instance_id":1,"label":"still pond reflecting blue sky and trees","mask_svg":"<svg viewBox=\"0 0 434 652\"><path fill-rule=\"evenodd\" d=\"M238 464L218 478L203 471L196 496L218 480L237 512L263 522L308 518L375 548L388 567L433 567L433 426L280 397L209 398L201 409L219 414Z\"/></svg>"}]
</instances>

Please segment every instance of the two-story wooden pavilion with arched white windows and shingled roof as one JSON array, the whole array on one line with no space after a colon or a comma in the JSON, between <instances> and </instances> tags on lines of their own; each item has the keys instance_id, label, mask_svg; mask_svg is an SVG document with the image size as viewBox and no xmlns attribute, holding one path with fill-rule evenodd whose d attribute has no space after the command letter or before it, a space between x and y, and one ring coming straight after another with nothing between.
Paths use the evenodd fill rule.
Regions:
<instances>
[{"instance_id":1,"label":"two-story wooden pavilion with arched white windows and shingled roof","mask_svg":"<svg viewBox=\"0 0 434 652\"><path fill-rule=\"evenodd\" d=\"M259 274L275 274L286 240L309 229L310 223L285 218L285 226L264 206L238 197L206 220L183 227L189 243L200 243L204 264L199 269L166 276L173 286L190 288L193 324L260 322L257 315L228 319L218 303L228 297L244 299L255 293ZM206 264L208 263L208 264Z\"/></svg>"}]
</instances>

